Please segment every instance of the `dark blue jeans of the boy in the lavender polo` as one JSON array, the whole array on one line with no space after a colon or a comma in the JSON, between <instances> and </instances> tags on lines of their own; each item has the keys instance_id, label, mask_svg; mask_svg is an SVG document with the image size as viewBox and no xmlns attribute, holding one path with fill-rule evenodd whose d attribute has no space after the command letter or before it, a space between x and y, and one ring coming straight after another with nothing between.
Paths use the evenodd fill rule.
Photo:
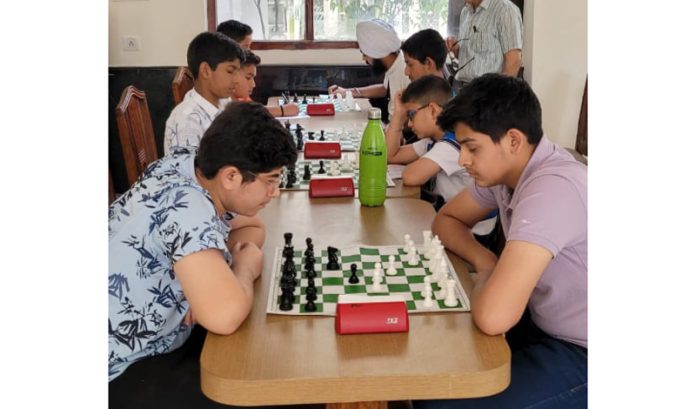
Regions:
<instances>
[{"instance_id":1,"label":"dark blue jeans of the boy in the lavender polo","mask_svg":"<svg viewBox=\"0 0 696 409\"><path fill-rule=\"evenodd\" d=\"M512 351L507 389L485 398L413 401L413 408L587 408L587 349L545 334L528 314L506 339Z\"/></svg>"}]
</instances>

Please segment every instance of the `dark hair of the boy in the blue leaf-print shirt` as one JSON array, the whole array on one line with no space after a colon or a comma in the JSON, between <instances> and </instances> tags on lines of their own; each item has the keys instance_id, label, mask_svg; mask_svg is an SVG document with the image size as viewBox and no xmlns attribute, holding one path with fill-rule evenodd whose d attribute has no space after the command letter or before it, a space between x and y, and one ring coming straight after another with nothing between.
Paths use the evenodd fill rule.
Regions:
<instances>
[{"instance_id":1,"label":"dark hair of the boy in the blue leaf-print shirt","mask_svg":"<svg viewBox=\"0 0 696 409\"><path fill-rule=\"evenodd\" d=\"M212 179L224 166L235 166L245 182L297 161L292 136L266 107L256 102L230 102L201 138L195 165Z\"/></svg>"}]
</instances>

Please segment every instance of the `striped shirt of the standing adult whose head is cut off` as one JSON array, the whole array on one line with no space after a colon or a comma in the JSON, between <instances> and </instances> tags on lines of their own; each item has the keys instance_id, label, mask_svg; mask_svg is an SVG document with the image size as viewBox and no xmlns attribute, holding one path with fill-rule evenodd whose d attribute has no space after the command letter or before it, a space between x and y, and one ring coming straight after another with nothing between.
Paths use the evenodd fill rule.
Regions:
<instances>
[{"instance_id":1,"label":"striped shirt of the standing adult whose head is cut off","mask_svg":"<svg viewBox=\"0 0 696 409\"><path fill-rule=\"evenodd\" d=\"M469 82L502 72L503 56L522 49L522 16L510 0L483 0L476 11L468 2L459 19L459 67L456 79Z\"/></svg>"}]
</instances>

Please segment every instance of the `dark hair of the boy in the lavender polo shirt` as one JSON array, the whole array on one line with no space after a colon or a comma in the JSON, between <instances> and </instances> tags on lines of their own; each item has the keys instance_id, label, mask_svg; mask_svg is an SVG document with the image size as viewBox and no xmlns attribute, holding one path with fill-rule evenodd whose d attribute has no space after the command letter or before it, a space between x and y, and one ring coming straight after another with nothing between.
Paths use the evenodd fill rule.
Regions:
<instances>
[{"instance_id":1,"label":"dark hair of the boy in the lavender polo shirt","mask_svg":"<svg viewBox=\"0 0 696 409\"><path fill-rule=\"evenodd\" d=\"M498 143L509 129L519 129L527 141L536 145L541 129L541 105L532 88L521 78L484 74L466 84L437 119L447 131L464 123Z\"/></svg>"}]
</instances>

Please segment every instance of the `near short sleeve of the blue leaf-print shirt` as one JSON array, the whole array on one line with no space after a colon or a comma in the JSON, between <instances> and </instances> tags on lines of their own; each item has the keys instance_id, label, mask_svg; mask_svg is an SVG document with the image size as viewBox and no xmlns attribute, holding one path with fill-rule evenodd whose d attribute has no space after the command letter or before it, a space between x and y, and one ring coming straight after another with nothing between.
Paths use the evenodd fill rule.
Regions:
<instances>
[{"instance_id":1,"label":"near short sleeve of the blue leaf-print shirt","mask_svg":"<svg viewBox=\"0 0 696 409\"><path fill-rule=\"evenodd\" d=\"M213 203L193 188L171 191L166 207L153 215L150 229L157 229L165 253L176 263L201 250L218 249L226 258L229 226L215 213Z\"/></svg>"}]
</instances>

